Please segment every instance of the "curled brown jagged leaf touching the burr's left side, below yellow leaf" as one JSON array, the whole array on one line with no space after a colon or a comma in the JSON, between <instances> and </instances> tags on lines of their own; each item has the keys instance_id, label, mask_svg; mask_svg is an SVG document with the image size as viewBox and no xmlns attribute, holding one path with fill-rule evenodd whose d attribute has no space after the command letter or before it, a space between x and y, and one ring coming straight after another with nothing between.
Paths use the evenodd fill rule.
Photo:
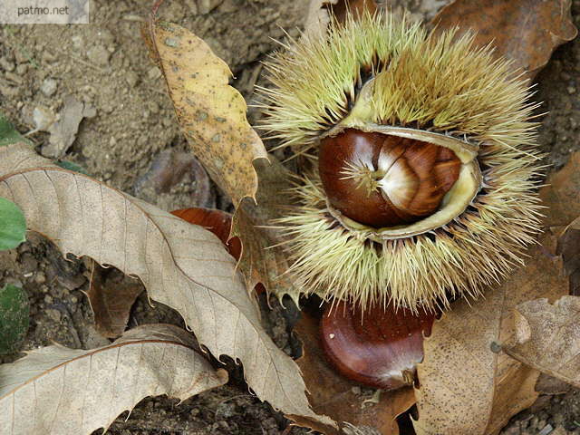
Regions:
<instances>
[{"instance_id":1,"label":"curled brown jagged leaf touching the burr's left side, below yellow leaf","mask_svg":"<svg viewBox=\"0 0 580 435\"><path fill-rule=\"evenodd\" d=\"M257 190L257 205L249 200L242 202L234 214L232 237L237 236L242 242L242 257L239 268L246 277L248 291L257 283L280 299L290 295L298 304L299 289L295 288L292 279L285 272L288 270L283 247L278 246L282 239L272 227L272 219L287 205L287 190L291 189L290 174L274 156L271 163L265 160L256 162L260 178Z\"/></svg>"}]
</instances>

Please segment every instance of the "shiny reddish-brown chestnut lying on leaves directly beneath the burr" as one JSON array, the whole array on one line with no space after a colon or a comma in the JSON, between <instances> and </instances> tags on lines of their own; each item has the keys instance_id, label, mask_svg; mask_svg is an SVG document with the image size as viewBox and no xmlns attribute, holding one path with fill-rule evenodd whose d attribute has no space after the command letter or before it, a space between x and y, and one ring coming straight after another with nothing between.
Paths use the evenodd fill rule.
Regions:
<instances>
[{"instance_id":1,"label":"shiny reddish-brown chestnut lying on leaves directly beneath the burr","mask_svg":"<svg viewBox=\"0 0 580 435\"><path fill-rule=\"evenodd\" d=\"M374 388L412 385L423 359L423 334L435 314L413 314L392 305L364 309L345 302L328 304L321 319L324 353L337 372Z\"/></svg>"}]
</instances>

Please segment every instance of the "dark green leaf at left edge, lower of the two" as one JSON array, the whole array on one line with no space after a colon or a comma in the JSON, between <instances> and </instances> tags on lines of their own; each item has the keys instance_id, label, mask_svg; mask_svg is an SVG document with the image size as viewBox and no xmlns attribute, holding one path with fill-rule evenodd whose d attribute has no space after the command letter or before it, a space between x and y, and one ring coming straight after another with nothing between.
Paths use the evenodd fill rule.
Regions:
<instances>
[{"instance_id":1,"label":"dark green leaf at left edge, lower of the two","mask_svg":"<svg viewBox=\"0 0 580 435\"><path fill-rule=\"evenodd\" d=\"M28 330L30 304L24 290L15 285L0 289L0 354L14 353Z\"/></svg>"}]
</instances>

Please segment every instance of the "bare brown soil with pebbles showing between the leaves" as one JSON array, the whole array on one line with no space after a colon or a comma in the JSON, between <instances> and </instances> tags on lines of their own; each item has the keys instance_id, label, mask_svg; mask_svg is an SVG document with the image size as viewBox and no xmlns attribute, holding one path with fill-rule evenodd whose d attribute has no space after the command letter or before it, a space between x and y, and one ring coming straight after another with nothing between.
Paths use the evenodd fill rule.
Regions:
<instances>
[{"instance_id":1,"label":"bare brown soil with pebbles showing between the leaves","mask_svg":"<svg viewBox=\"0 0 580 435\"><path fill-rule=\"evenodd\" d=\"M172 210L231 203L187 153L160 71L150 63L140 38L140 22L150 0L93 0L91 24L3 25L0 27L0 111L19 131L34 131L43 118L81 104L86 117L69 148L55 150L50 134L31 134L37 150L73 161L96 179ZM237 89L248 101L264 83L261 61L277 48L285 31L298 34L308 0L167 0L161 16L204 38L231 67ZM418 16L430 16L444 1L407 0ZM580 24L580 1L574 2ZM557 50L537 77L537 99L545 102L540 129L543 150L555 170L580 150L580 40ZM259 118L255 110L249 119ZM39 121L41 120L41 121ZM41 126L42 127L42 126ZM178 170L175 170L175 169ZM92 325L83 292L88 260L66 261L42 237L30 235L21 247L0 252L0 285L22 285L31 302L31 325L23 350L52 341L74 348L109 343ZM266 314L266 328L287 353L295 346L279 307ZM179 315L141 295L130 326L169 322ZM18 354L0 357L11 362ZM247 391L239 369L228 364L231 381L177 406L177 401L141 401L129 418L122 415L109 432L118 434L298 434L288 421ZM541 396L530 410L510 421L505 434L580 433L580 393Z\"/></svg>"}]
</instances>

